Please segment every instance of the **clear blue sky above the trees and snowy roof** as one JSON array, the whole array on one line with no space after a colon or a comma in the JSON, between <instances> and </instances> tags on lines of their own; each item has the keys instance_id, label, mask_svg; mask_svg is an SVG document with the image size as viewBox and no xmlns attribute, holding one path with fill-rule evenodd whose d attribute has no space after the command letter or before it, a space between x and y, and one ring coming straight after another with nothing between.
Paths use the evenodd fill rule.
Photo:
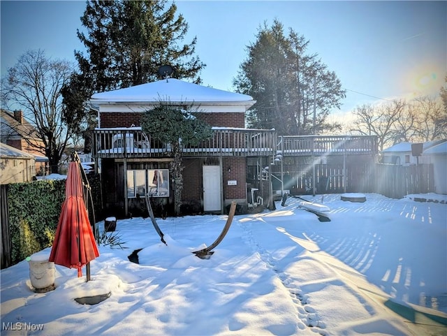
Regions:
<instances>
[{"instance_id":1,"label":"clear blue sky above the trees and snowy roof","mask_svg":"<svg viewBox=\"0 0 447 336\"><path fill-rule=\"evenodd\" d=\"M347 92L342 112L376 98L439 92L447 73L447 1L176 1L203 85L233 91L263 22L305 36ZM85 1L0 1L1 76L26 50L74 61ZM355 92L353 92L355 91ZM360 92L362 94L356 93ZM369 96L367 96L369 95ZM336 112L336 111L334 111Z\"/></svg>"}]
</instances>

